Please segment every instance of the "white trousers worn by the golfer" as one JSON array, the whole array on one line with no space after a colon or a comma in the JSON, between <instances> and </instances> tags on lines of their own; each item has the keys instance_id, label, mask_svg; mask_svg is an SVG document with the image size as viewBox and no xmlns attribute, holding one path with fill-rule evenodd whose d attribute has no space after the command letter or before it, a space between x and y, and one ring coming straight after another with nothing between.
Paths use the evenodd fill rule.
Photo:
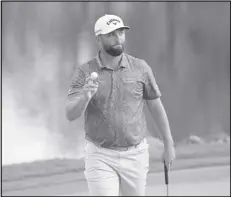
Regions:
<instances>
[{"instance_id":1,"label":"white trousers worn by the golfer","mask_svg":"<svg viewBox=\"0 0 231 197\"><path fill-rule=\"evenodd\" d=\"M147 140L127 151L101 148L86 140L85 177L91 196L145 196Z\"/></svg>"}]
</instances>

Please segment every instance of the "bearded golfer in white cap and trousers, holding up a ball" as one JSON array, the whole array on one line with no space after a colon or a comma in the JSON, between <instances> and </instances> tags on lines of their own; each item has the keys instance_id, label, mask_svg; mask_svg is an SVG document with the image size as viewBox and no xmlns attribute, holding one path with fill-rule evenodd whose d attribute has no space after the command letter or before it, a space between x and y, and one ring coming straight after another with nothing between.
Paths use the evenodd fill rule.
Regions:
<instances>
[{"instance_id":1,"label":"bearded golfer in white cap and trousers, holding up a ball","mask_svg":"<svg viewBox=\"0 0 231 197\"><path fill-rule=\"evenodd\" d=\"M170 165L175 158L152 69L145 60L124 53L127 29L115 15L96 21L99 51L75 67L66 102L68 120L85 117L84 174L94 196L145 195L149 170L145 102L164 143L163 161Z\"/></svg>"}]
</instances>

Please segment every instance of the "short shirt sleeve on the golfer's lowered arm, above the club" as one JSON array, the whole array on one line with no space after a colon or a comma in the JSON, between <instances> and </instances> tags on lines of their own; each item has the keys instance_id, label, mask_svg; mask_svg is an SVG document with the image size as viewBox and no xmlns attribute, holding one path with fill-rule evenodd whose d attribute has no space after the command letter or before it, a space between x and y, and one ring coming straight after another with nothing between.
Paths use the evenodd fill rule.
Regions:
<instances>
[{"instance_id":1,"label":"short shirt sleeve on the golfer's lowered arm, above the club","mask_svg":"<svg viewBox=\"0 0 231 197\"><path fill-rule=\"evenodd\" d=\"M153 100L161 97L161 92L156 83L151 67L143 60L143 78L144 78L144 92L143 98L146 100Z\"/></svg>"}]
</instances>

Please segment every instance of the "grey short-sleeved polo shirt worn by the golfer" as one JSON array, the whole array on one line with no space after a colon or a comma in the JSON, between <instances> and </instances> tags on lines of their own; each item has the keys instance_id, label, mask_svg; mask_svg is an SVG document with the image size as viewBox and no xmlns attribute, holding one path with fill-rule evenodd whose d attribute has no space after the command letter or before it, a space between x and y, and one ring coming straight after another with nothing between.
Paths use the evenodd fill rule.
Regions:
<instances>
[{"instance_id":1,"label":"grey short-sleeved polo shirt worn by the golfer","mask_svg":"<svg viewBox=\"0 0 231 197\"><path fill-rule=\"evenodd\" d=\"M123 54L116 70L102 66L99 53L76 66L68 99L82 94L86 77L98 73L99 88L85 111L86 138L105 148L138 144L147 124L144 101L161 96L152 69L142 59Z\"/></svg>"}]
</instances>

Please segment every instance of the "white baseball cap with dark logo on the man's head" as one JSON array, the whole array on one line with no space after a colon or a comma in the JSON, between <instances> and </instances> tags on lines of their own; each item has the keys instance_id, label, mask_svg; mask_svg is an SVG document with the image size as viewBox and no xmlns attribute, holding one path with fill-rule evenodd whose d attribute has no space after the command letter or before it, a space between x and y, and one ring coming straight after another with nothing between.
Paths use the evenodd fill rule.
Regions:
<instances>
[{"instance_id":1,"label":"white baseball cap with dark logo on the man's head","mask_svg":"<svg viewBox=\"0 0 231 197\"><path fill-rule=\"evenodd\" d=\"M122 19L115 15L105 14L100 17L95 23L95 35L108 34L116 29L130 29L129 26L124 26Z\"/></svg>"}]
</instances>

